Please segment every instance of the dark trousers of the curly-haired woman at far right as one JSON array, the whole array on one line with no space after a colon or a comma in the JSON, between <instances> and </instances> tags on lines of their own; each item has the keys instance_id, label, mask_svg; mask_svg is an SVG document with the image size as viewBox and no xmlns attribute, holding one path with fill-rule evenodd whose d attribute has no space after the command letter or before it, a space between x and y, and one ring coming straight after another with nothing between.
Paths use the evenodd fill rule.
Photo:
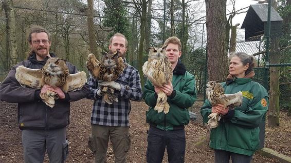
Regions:
<instances>
[{"instance_id":1,"label":"dark trousers of the curly-haired woman at far right","mask_svg":"<svg viewBox=\"0 0 291 163\"><path fill-rule=\"evenodd\" d=\"M230 156L232 163L249 163L252 158L252 155L247 156L225 150L214 150L214 154L215 163L229 163Z\"/></svg>"}]
</instances>

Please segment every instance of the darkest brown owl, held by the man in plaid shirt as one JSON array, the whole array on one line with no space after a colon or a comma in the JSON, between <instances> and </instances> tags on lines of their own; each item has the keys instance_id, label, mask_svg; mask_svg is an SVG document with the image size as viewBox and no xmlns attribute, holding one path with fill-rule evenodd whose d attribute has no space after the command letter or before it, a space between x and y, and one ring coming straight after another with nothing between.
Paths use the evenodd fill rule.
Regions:
<instances>
[{"instance_id":1,"label":"darkest brown owl, held by the man in plaid shirt","mask_svg":"<svg viewBox=\"0 0 291 163\"><path fill-rule=\"evenodd\" d=\"M102 81L115 81L123 72L126 64L121 57L118 57L118 51L113 53L103 53L101 62L99 63L94 54L88 55L87 69L93 78ZM99 87L103 100L107 104L113 104L113 101L118 101L114 95L114 89L109 87Z\"/></svg>"}]
</instances>

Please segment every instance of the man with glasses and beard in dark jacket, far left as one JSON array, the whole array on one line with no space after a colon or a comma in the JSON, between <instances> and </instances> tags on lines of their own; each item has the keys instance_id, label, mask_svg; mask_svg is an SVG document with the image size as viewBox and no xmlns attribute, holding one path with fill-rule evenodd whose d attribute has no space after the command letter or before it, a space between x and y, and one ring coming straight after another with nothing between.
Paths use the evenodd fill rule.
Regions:
<instances>
[{"instance_id":1,"label":"man with glasses and beard in dark jacket, far left","mask_svg":"<svg viewBox=\"0 0 291 163\"><path fill-rule=\"evenodd\" d=\"M44 85L41 90L22 87L15 79L18 66L40 69L49 57L56 57L49 52L51 40L43 27L35 26L30 29L28 43L31 48L29 56L27 60L12 67L0 85L0 99L8 103L18 103L24 162L43 162L46 150L49 162L64 162L68 154L66 126L69 125L70 101L86 97L89 88L85 85L81 90L64 93L59 87L48 85ZM78 72L74 65L68 62L66 65L70 74ZM40 93L47 90L59 95L53 108L41 100Z\"/></svg>"}]
</instances>

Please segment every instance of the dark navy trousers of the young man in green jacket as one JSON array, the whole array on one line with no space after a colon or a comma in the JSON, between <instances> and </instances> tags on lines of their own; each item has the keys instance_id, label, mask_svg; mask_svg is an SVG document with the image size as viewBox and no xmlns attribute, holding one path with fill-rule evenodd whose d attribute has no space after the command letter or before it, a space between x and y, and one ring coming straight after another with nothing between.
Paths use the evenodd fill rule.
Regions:
<instances>
[{"instance_id":1,"label":"dark navy trousers of the young man in green jacket","mask_svg":"<svg viewBox=\"0 0 291 163\"><path fill-rule=\"evenodd\" d=\"M163 131L151 126L148 135L147 162L161 162L166 147L169 163L184 162L186 148L185 130Z\"/></svg>"}]
</instances>

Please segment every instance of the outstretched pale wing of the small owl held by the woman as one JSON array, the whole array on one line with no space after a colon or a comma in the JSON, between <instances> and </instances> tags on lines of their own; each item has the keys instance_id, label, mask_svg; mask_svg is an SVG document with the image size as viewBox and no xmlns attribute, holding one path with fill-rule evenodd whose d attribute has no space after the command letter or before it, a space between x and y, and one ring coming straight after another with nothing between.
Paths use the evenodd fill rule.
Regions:
<instances>
[{"instance_id":1,"label":"outstretched pale wing of the small owl held by the woman","mask_svg":"<svg viewBox=\"0 0 291 163\"><path fill-rule=\"evenodd\" d=\"M242 102L243 102L243 95L242 92L239 91L237 93L234 94L224 94L222 95L222 103L225 106L229 106L229 107L237 107L237 106L241 106Z\"/></svg>"}]
</instances>

